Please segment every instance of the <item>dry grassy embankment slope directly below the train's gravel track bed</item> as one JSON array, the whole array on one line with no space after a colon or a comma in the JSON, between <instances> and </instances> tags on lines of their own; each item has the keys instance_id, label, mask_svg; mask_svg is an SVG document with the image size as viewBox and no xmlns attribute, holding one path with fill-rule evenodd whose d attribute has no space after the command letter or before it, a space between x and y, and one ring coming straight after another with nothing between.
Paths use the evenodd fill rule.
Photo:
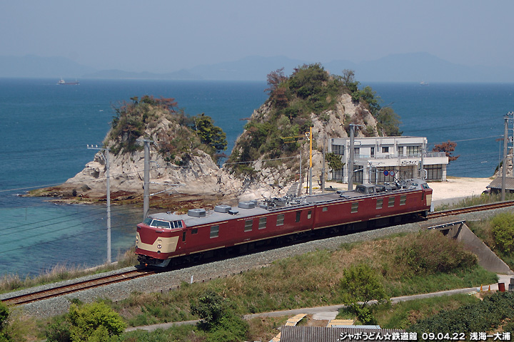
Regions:
<instances>
[{"instance_id":1,"label":"dry grassy embankment slope directly below the train's gravel track bed","mask_svg":"<svg viewBox=\"0 0 514 342\"><path fill-rule=\"evenodd\" d=\"M189 303L211 289L229 299L238 314L341 304L343 270L372 267L388 296L420 294L497 281L476 257L438 232L343 245L274 262L263 269L209 283L186 284L163 294L133 294L113 304L131 326L195 319Z\"/></svg>"}]
</instances>

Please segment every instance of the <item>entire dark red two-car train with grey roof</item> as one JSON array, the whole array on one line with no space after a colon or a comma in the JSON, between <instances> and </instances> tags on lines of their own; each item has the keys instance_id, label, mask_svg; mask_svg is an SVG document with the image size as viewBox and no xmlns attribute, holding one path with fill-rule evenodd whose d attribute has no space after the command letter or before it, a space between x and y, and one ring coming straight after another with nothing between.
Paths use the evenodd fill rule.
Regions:
<instances>
[{"instance_id":1,"label":"entire dark red two-car train with grey roof","mask_svg":"<svg viewBox=\"0 0 514 342\"><path fill-rule=\"evenodd\" d=\"M188 214L151 214L137 225L136 254L141 264L166 266L176 257L195 256L225 247L248 245L329 227L367 222L380 227L405 215L426 216L432 190L423 180L403 185L358 185L356 190L240 202L237 208L191 209Z\"/></svg>"}]
</instances>

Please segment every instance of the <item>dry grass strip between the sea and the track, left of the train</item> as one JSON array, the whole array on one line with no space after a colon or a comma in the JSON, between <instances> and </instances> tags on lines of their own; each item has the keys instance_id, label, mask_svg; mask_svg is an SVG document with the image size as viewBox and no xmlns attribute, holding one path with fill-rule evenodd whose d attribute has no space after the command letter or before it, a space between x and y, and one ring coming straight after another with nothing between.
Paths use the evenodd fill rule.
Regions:
<instances>
[{"instance_id":1,"label":"dry grass strip between the sea and the track, left of the train","mask_svg":"<svg viewBox=\"0 0 514 342\"><path fill-rule=\"evenodd\" d=\"M27 276L21 279L18 274L4 274L0 277L0 294L28 289L30 287L51 284L57 281L76 279L80 276L88 276L91 274L99 274L114 269L122 269L138 264L134 248L129 249L123 255L117 258L117 262L110 265L101 265L93 269L84 269L81 267L69 267L66 265L56 265L38 276Z\"/></svg>"}]
</instances>

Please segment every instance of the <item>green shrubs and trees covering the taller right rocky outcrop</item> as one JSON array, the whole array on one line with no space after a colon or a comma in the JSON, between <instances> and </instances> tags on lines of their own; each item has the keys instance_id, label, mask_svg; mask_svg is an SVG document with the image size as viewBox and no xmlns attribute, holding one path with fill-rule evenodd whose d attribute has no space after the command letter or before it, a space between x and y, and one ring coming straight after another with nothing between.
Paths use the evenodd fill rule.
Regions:
<instances>
[{"instance_id":1,"label":"green shrubs and trees covering the taller right rocky outcrop","mask_svg":"<svg viewBox=\"0 0 514 342\"><path fill-rule=\"evenodd\" d=\"M352 95L355 102L362 103L378 120L381 135L401 135L398 130L398 115L391 108L381 108L380 98L370 88L358 90L353 71L343 71L343 76L330 75L321 64L310 64L296 68L291 76L285 76L283 68L268 75L269 110L253 117L241 135L228 162L248 162L260 157L273 159L297 155L302 137L313 125L311 114L323 123L328 123L331 110L336 110L338 99L343 93ZM360 111L353 120L343 118L345 128L363 120ZM360 122L360 121L359 121ZM366 135L375 131L366 130ZM316 140L314 140L316 142ZM314 146L316 148L316 146ZM296 167L296 165L286 166ZM253 174L253 169L244 164L232 167L236 173Z\"/></svg>"}]
</instances>

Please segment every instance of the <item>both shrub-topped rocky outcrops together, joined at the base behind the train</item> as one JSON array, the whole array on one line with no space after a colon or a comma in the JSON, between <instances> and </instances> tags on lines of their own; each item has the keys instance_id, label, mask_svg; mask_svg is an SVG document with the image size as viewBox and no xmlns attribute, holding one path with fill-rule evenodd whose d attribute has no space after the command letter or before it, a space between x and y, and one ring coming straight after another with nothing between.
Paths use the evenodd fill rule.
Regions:
<instances>
[{"instance_id":1,"label":"both shrub-topped rocky outcrops together, joined at the base behind the train","mask_svg":"<svg viewBox=\"0 0 514 342\"><path fill-rule=\"evenodd\" d=\"M143 140L150 140L152 207L209 207L221 201L281 196L298 181L300 154L305 180L308 149L305 133L312 128L313 179L322 170L328 138L348 137L351 123L361 125L356 136L400 135L398 115L381 108L370 87L358 89L353 71L331 75L320 64L268 75L269 98L253 111L224 167L218 158L226 135L208 115L190 117L173 98L133 97L114 108L116 116L104 140L110 151L111 200L141 203ZM327 140L325 140L327 141ZM31 192L67 202L106 199L106 162L101 152L84 170L58 187ZM196 204L198 205L198 204Z\"/></svg>"}]
</instances>

